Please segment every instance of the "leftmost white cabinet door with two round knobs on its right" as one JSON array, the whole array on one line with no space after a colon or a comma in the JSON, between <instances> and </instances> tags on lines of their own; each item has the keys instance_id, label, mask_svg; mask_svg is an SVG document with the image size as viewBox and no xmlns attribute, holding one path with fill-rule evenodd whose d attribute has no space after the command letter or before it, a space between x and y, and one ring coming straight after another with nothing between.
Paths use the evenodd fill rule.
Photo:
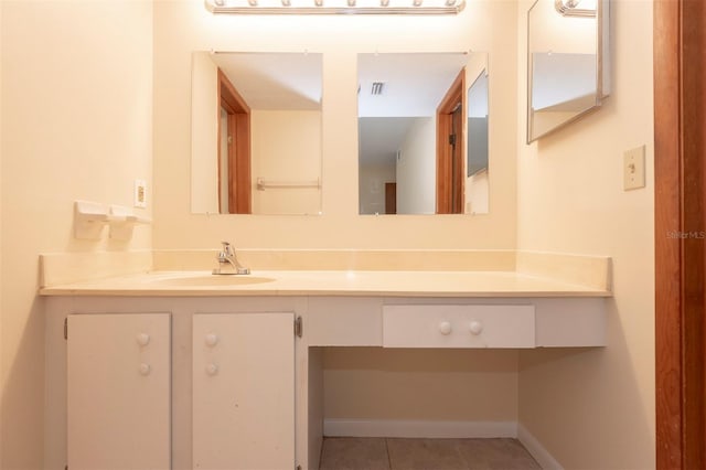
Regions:
<instances>
[{"instance_id":1,"label":"leftmost white cabinet door with two round knobs on its right","mask_svg":"<svg viewBox=\"0 0 706 470\"><path fill-rule=\"evenodd\" d=\"M68 468L169 469L170 314L68 317Z\"/></svg>"}]
</instances>

